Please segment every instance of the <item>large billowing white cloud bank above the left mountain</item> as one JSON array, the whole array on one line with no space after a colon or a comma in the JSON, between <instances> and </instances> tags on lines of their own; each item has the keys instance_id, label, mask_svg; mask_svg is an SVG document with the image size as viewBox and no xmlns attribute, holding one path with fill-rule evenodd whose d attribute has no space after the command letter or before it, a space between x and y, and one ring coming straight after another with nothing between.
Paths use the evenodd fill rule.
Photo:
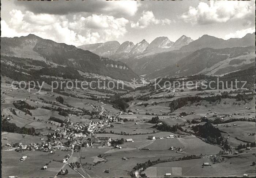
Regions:
<instances>
[{"instance_id":1,"label":"large billowing white cloud bank above the left mountain","mask_svg":"<svg viewBox=\"0 0 256 178\"><path fill-rule=\"evenodd\" d=\"M129 21L125 18L115 18L107 15L91 15L84 17L74 15L34 14L13 9L9 22L1 21L2 36L26 36L33 33L45 39L59 43L80 46L89 43L114 40L123 36Z\"/></svg>"}]
</instances>

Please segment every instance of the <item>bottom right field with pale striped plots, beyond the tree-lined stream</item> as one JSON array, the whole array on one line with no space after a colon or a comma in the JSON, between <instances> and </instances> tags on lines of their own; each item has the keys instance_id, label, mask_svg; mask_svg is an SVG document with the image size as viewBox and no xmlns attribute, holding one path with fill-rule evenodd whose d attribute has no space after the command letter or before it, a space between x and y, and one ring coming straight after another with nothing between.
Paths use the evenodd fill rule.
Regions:
<instances>
[{"instance_id":1,"label":"bottom right field with pale striped plots, beyond the tree-lined stream","mask_svg":"<svg viewBox=\"0 0 256 178\"><path fill-rule=\"evenodd\" d=\"M209 167L202 166L204 162L209 162L209 158L192 159L184 161L166 162L149 167L144 171L148 177L163 177L166 173L177 174L173 170L174 167L179 167L181 175L189 177L214 177L214 176L238 176L248 174L250 177L255 176L255 166L251 166L253 156L242 155L230 159L225 159L224 162L212 164ZM152 171L155 170L155 171ZM178 175L177 175L178 176Z\"/></svg>"}]
</instances>

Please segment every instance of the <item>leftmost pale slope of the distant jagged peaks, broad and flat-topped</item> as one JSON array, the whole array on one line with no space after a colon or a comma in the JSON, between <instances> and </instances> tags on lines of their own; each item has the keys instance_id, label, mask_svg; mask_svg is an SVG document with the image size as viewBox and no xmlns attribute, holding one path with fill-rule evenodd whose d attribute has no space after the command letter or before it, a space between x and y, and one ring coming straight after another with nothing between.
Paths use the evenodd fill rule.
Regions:
<instances>
[{"instance_id":1,"label":"leftmost pale slope of the distant jagged peaks, broad and flat-topped","mask_svg":"<svg viewBox=\"0 0 256 178\"><path fill-rule=\"evenodd\" d=\"M99 56L108 57L113 55L119 47L120 43L118 41L107 41L105 43L86 44L78 48L91 51Z\"/></svg>"}]
</instances>

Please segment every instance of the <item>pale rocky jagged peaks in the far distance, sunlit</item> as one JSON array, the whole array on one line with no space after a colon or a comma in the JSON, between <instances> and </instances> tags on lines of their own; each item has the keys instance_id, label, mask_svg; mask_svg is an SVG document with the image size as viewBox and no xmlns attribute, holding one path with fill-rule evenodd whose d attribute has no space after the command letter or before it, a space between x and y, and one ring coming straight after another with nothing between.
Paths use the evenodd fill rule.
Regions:
<instances>
[{"instance_id":1,"label":"pale rocky jagged peaks in the far distance, sunlit","mask_svg":"<svg viewBox=\"0 0 256 178\"><path fill-rule=\"evenodd\" d=\"M151 43L148 43L145 39L135 45L131 41L125 41L122 44L118 43L118 41L107 41L106 43L86 44L78 46L78 48L115 60L131 56L147 56L159 52L178 50L191 41L193 40L185 35L182 35L175 42L170 41L168 37L161 36L155 38Z\"/></svg>"}]
</instances>

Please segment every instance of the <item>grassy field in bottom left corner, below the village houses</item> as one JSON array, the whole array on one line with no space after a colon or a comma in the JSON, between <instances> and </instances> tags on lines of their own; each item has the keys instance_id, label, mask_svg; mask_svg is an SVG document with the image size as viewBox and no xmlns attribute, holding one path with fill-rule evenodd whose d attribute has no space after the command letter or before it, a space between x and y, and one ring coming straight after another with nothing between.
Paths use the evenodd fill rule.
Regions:
<instances>
[{"instance_id":1,"label":"grassy field in bottom left corner, below the village houses","mask_svg":"<svg viewBox=\"0 0 256 178\"><path fill-rule=\"evenodd\" d=\"M50 154L42 151L24 151L18 153L16 151L2 151L2 177L18 176L18 177L54 177L60 170L63 163L52 161L53 159L63 159L65 155L70 154L67 151L55 151ZM19 159L27 155L27 159L23 162ZM49 168L41 170L41 168L49 163Z\"/></svg>"}]
</instances>

